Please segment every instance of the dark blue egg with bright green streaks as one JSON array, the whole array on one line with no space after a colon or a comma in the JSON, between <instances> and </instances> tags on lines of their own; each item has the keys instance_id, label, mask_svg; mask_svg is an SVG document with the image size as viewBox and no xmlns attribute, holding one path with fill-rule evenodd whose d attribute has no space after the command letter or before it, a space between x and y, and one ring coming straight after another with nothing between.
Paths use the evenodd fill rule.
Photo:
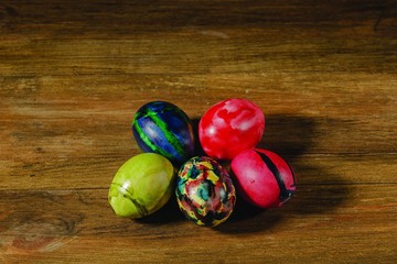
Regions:
<instances>
[{"instance_id":1,"label":"dark blue egg with bright green streaks","mask_svg":"<svg viewBox=\"0 0 397 264\"><path fill-rule=\"evenodd\" d=\"M181 165L194 153L192 122L179 107L164 101L142 106L135 114L132 133L143 152L158 153Z\"/></svg>"}]
</instances>

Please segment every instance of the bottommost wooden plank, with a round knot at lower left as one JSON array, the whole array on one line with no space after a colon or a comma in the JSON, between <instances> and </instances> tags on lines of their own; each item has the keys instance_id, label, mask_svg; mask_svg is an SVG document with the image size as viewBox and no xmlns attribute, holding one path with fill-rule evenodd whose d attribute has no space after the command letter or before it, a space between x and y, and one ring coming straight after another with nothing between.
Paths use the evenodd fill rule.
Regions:
<instances>
[{"instance_id":1,"label":"bottommost wooden plank, with a round knot at lower left","mask_svg":"<svg viewBox=\"0 0 397 264\"><path fill-rule=\"evenodd\" d=\"M65 257L83 262L92 254L94 260L100 260L104 253L117 253L120 260L155 262L178 256L179 261L192 257L195 262L208 252L233 262L281 261L286 256L280 256L280 244L285 244L293 252L291 261L331 261L333 250L348 260L356 256L353 248L360 249L358 260L390 261L395 256L390 249L396 245L393 235L396 195L395 184L371 188L363 185L304 186L280 209L259 211L240 202L237 213L227 223L208 229L185 220L175 201L149 220L131 221L114 216L106 205L106 190L101 189L1 191L3 257L12 260L24 255L21 260L39 257L41 261ZM318 240L318 233L323 239ZM100 241L111 243L101 248L99 254ZM305 249L314 241L328 252ZM369 250L376 241L384 243L377 244L375 251ZM127 244L129 246L121 250Z\"/></svg>"}]
</instances>

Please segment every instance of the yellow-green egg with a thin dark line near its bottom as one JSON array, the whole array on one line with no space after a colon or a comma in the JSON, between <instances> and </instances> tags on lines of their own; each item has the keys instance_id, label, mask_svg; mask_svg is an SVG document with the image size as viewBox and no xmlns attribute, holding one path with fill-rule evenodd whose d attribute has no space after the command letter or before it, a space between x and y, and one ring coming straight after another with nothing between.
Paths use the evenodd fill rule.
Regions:
<instances>
[{"instance_id":1,"label":"yellow-green egg with a thin dark line near its bottom","mask_svg":"<svg viewBox=\"0 0 397 264\"><path fill-rule=\"evenodd\" d=\"M119 217L149 216L170 199L174 178L174 167L165 157L155 153L139 154L116 173L109 189L109 204Z\"/></svg>"}]
</instances>

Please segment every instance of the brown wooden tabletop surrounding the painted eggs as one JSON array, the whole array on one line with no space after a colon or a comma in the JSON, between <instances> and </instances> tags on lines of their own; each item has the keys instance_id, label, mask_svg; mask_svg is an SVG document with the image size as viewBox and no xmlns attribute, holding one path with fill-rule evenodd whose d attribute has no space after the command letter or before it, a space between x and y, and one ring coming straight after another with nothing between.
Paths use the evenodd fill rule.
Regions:
<instances>
[{"instance_id":1,"label":"brown wooden tabletop surrounding the painted eggs","mask_svg":"<svg viewBox=\"0 0 397 264\"><path fill-rule=\"evenodd\" d=\"M137 109L226 98L262 109L296 196L214 229L174 199L117 218ZM397 261L396 1L2 0L0 124L0 263Z\"/></svg>"}]
</instances>

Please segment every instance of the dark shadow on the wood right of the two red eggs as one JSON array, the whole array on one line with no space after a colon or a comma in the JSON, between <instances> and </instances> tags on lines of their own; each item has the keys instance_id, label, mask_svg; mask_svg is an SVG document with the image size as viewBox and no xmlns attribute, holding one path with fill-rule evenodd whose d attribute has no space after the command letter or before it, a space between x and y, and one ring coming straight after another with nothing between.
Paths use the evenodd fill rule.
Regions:
<instances>
[{"instance_id":1,"label":"dark shadow on the wood right of the two red eggs","mask_svg":"<svg viewBox=\"0 0 397 264\"><path fill-rule=\"evenodd\" d=\"M256 208L237 195L233 215L216 230L225 233L270 230L291 217L330 212L350 199L352 188L345 179L339 175L330 175L321 166L308 165L304 158L309 158L309 155L303 157L304 154L315 154L315 142L322 133L332 133L320 129L320 125L337 125L336 122L288 114L266 116L265 134L257 147L279 154L293 167L297 191L281 208L269 210Z\"/></svg>"}]
</instances>

